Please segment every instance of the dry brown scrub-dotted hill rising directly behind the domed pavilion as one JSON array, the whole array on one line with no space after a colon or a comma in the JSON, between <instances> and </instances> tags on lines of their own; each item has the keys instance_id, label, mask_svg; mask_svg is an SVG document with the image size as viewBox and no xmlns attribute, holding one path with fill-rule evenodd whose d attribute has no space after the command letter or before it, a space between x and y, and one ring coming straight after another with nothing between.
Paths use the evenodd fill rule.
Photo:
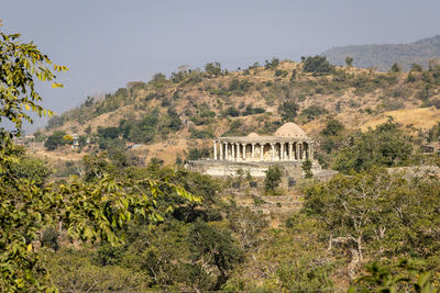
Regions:
<instances>
[{"instance_id":1,"label":"dry brown scrub-dotted hill rising directly behind the domed pavilion","mask_svg":"<svg viewBox=\"0 0 440 293\"><path fill-rule=\"evenodd\" d=\"M359 128L392 115L403 126L427 131L439 120L438 84L438 66L380 72L332 67L319 56L304 63L274 58L240 71L208 64L205 70L183 70L169 78L157 74L148 82L130 82L113 94L88 98L54 116L43 135L76 133L107 150L136 144L146 159L174 164L191 149L211 147L216 136L272 134L293 120L311 135L330 116Z\"/></svg>"}]
</instances>

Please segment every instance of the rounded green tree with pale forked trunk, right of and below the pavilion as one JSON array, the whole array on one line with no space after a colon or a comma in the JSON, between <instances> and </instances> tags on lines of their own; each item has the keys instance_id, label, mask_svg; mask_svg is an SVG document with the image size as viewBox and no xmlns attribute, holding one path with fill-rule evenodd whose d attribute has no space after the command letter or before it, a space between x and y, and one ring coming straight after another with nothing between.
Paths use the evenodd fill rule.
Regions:
<instances>
[{"instance_id":1,"label":"rounded green tree with pale forked trunk, right of and below the pavilion","mask_svg":"<svg viewBox=\"0 0 440 293\"><path fill-rule=\"evenodd\" d=\"M309 188L304 209L327 225L330 238L345 237L362 261L365 241L399 229L396 212L402 202L394 199L406 191L406 183L383 169L337 176Z\"/></svg>"}]
</instances>

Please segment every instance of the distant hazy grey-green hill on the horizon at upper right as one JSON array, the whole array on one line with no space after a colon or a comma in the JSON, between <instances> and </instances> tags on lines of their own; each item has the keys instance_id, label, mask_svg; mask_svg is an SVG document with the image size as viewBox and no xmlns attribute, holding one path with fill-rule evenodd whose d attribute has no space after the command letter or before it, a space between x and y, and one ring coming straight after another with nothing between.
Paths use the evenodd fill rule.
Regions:
<instances>
[{"instance_id":1,"label":"distant hazy grey-green hill on the horizon at upper right","mask_svg":"<svg viewBox=\"0 0 440 293\"><path fill-rule=\"evenodd\" d=\"M375 67L381 71L389 70L393 64L399 64L409 70L416 63L428 68L429 61L440 58L440 35L422 38L409 44L372 44L334 47L322 53L336 65L344 65L345 57L352 57L353 65L362 68Z\"/></svg>"}]
</instances>

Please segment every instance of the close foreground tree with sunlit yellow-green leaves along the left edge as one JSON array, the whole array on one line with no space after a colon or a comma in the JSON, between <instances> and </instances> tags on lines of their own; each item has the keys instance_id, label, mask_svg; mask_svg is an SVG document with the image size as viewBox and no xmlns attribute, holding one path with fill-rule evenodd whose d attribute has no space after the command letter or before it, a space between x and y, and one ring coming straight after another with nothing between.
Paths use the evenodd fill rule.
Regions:
<instances>
[{"instance_id":1,"label":"close foreground tree with sunlit yellow-green leaves along the left edge","mask_svg":"<svg viewBox=\"0 0 440 293\"><path fill-rule=\"evenodd\" d=\"M21 135L23 121L32 123L28 111L40 116L52 114L38 103L42 97L35 90L35 79L53 81L54 72L67 68L53 64L33 43L21 43L19 34L0 31L0 122L13 125L12 129L0 128L0 290L56 291L33 244L42 229L62 224L73 238L120 244L117 230L131 218L161 219L153 209L154 198L161 194L160 183L146 180L150 193L140 193L135 182L108 177L94 184L72 179L40 188L32 179L11 176L18 159L12 138ZM61 87L56 82L52 86ZM198 200L179 187L172 188L188 200Z\"/></svg>"}]
</instances>

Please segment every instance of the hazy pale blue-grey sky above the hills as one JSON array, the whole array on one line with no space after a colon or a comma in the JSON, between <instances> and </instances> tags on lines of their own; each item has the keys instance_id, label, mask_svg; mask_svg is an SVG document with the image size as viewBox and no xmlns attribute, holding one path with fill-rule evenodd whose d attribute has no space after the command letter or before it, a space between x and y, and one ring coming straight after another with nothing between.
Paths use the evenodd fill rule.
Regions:
<instances>
[{"instance_id":1,"label":"hazy pale blue-grey sky above the hills","mask_svg":"<svg viewBox=\"0 0 440 293\"><path fill-rule=\"evenodd\" d=\"M440 33L439 0L1 0L7 33L69 67L64 89L42 88L62 113L87 95L147 81L179 65L237 69L299 60L333 46L410 43ZM37 122L36 125L41 125Z\"/></svg>"}]
</instances>

